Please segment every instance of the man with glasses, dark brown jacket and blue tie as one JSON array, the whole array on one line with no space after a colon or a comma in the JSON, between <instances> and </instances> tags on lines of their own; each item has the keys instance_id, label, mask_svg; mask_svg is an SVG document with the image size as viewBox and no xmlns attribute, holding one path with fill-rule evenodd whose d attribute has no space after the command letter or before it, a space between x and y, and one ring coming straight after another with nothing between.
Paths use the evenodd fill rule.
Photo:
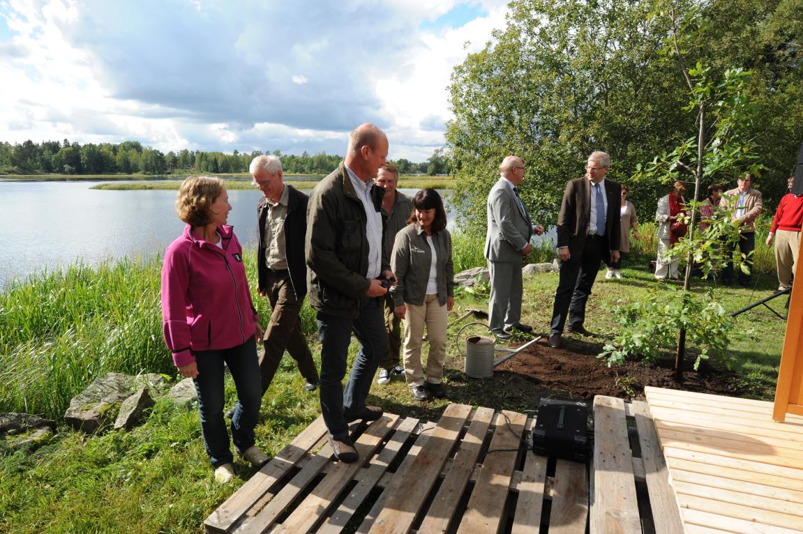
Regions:
<instances>
[{"instance_id":1,"label":"man with glasses, dark brown jacket and blue tie","mask_svg":"<svg viewBox=\"0 0 803 534\"><path fill-rule=\"evenodd\" d=\"M585 303L600 269L600 261L616 262L622 240L619 206L622 187L605 180L610 156L592 152L585 176L569 180L557 220L560 281L552 307L549 346L562 345L569 316L569 332L592 336L585 330Z\"/></svg>"}]
</instances>

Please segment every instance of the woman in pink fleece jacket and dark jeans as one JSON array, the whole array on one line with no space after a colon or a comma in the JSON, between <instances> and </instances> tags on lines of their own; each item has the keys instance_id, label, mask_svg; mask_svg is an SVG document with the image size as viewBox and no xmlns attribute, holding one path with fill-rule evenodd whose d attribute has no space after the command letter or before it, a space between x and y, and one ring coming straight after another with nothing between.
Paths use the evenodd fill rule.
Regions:
<instances>
[{"instance_id":1,"label":"woman in pink fleece jacket and dark jeans","mask_svg":"<svg viewBox=\"0 0 803 534\"><path fill-rule=\"evenodd\" d=\"M178 372L195 382L206 453L215 479L226 483L234 467L223 419L224 363L237 386L234 447L256 467L268 460L254 444L262 403L254 337L262 339L262 327L251 302L243 249L226 226L231 205L223 180L190 176L178 191L176 211L187 226L167 248L161 269L165 343Z\"/></svg>"}]
</instances>

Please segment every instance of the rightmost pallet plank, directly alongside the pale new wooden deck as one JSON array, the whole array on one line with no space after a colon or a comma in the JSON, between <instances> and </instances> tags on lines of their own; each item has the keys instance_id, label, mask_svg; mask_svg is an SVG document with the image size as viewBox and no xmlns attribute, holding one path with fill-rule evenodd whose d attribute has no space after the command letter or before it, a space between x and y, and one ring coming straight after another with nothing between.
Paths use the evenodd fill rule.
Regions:
<instances>
[{"instance_id":1,"label":"rightmost pallet plank, directly alongside the pale new wooden deck","mask_svg":"<svg viewBox=\"0 0 803 534\"><path fill-rule=\"evenodd\" d=\"M638 443L641 445L644 462L647 492L650 495L650 508L656 534L682 534L683 522L680 520L675 492L669 485L669 469L658 443L658 434L646 403L634 402L631 407L636 419Z\"/></svg>"}]
</instances>

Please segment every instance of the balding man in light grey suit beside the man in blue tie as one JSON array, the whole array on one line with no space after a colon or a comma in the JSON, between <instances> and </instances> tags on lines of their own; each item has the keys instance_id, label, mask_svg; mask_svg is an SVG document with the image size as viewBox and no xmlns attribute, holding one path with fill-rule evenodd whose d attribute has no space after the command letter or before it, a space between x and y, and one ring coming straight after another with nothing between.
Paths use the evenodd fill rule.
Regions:
<instances>
[{"instance_id":1,"label":"balding man in light grey suit beside the man in blue tie","mask_svg":"<svg viewBox=\"0 0 803 534\"><path fill-rule=\"evenodd\" d=\"M511 337L512 330L532 332L523 325L521 295L521 259L532 250L530 237L544 233L532 225L527 208L519 196L524 180L524 162L519 156L507 156L499 165L499 181L488 193L488 230L485 257L491 272L491 301L488 303L489 326L497 338Z\"/></svg>"}]
</instances>

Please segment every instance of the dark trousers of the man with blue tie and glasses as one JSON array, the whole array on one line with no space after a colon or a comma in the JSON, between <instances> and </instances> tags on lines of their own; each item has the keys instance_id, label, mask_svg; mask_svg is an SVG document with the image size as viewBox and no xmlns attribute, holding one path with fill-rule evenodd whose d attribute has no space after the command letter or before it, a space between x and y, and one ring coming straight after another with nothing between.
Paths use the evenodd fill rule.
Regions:
<instances>
[{"instance_id":1,"label":"dark trousers of the man with blue tie and glasses","mask_svg":"<svg viewBox=\"0 0 803 534\"><path fill-rule=\"evenodd\" d=\"M582 256L560 263L560 281L555 291L555 305L552 306L551 334L562 334L566 318L569 326L583 326L585 322L585 303L591 295L594 280L600 269L600 261L606 256L608 240L605 237L587 237Z\"/></svg>"}]
</instances>

